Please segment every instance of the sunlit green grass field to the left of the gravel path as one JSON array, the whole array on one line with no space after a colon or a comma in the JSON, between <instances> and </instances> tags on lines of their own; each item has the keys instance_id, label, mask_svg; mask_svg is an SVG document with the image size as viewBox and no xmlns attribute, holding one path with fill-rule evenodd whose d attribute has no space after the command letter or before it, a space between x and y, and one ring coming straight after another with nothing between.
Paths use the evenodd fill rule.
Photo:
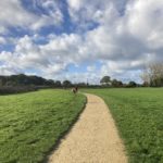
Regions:
<instances>
[{"instance_id":1,"label":"sunlit green grass field to the left of the gravel path","mask_svg":"<svg viewBox=\"0 0 163 163\"><path fill-rule=\"evenodd\" d=\"M0 163L42 161L85 102L66 90L0 96Z\"/></svg>"}]
</instances>

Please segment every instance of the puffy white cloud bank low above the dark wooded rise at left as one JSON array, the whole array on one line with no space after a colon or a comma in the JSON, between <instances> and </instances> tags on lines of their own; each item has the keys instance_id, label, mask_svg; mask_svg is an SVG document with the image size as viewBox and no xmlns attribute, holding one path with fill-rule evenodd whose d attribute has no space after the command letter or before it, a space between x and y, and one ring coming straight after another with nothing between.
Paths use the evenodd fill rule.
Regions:
<instances>
[{"instance_id":1,"label":"puffy white cloud bank low above the dark wooded rise at left","mask_svg":"<svg viewBox=\"0 0 163 163\"><path fill-rule=\"evenodd\" d=\"M13 52L0 53L0 61L8 67L15 67L16 72L37 68L46 76L53 76L80 60L77 45L82 40L78 35L53 36L46 45L36 45L34 40L35 37L27 35L20 38Z\"/></svg>"}]
</instances>

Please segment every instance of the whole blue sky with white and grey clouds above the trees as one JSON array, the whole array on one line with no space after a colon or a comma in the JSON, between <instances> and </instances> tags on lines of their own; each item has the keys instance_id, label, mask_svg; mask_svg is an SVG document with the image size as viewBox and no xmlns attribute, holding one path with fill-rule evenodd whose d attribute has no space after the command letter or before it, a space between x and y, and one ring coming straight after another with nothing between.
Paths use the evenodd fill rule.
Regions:
<instances>
[{"instance_id":1,"label":"whole blue sky with white and grey clouds above the trees","mask_svg":"<svg viewBox=\"0 0 163 163\"><path fill-rule=\"evenodd\" d=\"M141 83L163 62L163 0L0 0L0 75Z\"/></svg>"}]
</instances>

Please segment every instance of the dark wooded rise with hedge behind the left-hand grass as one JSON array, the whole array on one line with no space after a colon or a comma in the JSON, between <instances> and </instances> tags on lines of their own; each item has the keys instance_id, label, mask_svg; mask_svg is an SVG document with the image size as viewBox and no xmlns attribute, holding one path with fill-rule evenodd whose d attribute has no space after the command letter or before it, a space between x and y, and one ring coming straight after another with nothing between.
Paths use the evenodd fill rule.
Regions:
<instances>
[{"instance_id":1,"label":"dark wooded rise with hedge behind the left-hand grass","mask_svg":"<svg viewBox=\"0 0 163 163\"><path fill-rule=\"evenodd\" d=\"M46 79L39 76L25 74L0 76L0 95L36 91L40 88L61 88L60 80Z\"/></svg>"}]
</instances>

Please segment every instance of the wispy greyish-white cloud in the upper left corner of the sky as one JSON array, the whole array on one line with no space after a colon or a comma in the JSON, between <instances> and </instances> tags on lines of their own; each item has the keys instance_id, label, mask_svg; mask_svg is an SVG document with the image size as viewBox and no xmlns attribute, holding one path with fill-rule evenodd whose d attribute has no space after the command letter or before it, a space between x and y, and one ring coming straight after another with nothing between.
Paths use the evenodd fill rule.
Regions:
<instances>
[{"instance_id":1,"label":"wispy greyish-white cloud in the upper left corner of the sky","mask_svg":"<svg viewBox=\"0 0 163 163\"><path fill-rule=\"evenodd\" d=\"M33 0L34 2L35 0ZM7 32L5 28L10 27L22 27L37 30L43 26L58 25L62 22L62 13L55 7L49 9L49 5L54 5L51 0L46 2L39 1L36 5L41 5L47 14L36 14L36 12L27 11L21 0L1 0L0 1L0 33Z\"/></svg>"}]
</instances>

